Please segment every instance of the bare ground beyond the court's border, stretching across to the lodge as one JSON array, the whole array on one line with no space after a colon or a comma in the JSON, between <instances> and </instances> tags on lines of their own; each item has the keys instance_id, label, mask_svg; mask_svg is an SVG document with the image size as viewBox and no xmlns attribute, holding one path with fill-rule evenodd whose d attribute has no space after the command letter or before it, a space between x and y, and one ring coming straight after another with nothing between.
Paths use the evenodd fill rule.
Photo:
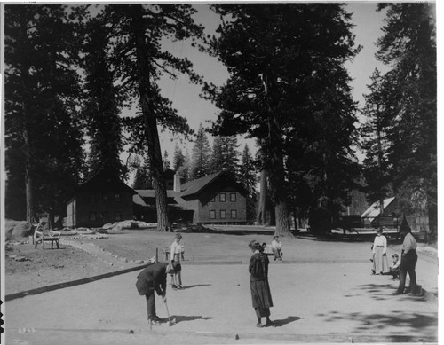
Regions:
<instances>
[{"instance_id":1,"label":"bare ground beyond the court's border, stretching across to the lodge","mask_svg":"<svg viewBox=\"0 0 444 345\"><path fill-rule=\"evenodd\" d=\"M273 228L235 228L236 231L232 231L233 227L178 229L183 233L184 263L245 262L250 258L250 240L270 243L274 234ZM19 231L10 236L10 241L4 247L5 294L119 271L123 265L137 265L135 262L147 261L156 254L159 261L165 261L163 248L169 247L175 237L174 233L158 232L155 228L120 229L97 237L73 236L69 231L62 231L60 248L51 249L48 246L35 248L28 243L28 237L24 237L24 234ZM281 239L284 261L322 262L332 259L328 250L329 241L317 241L318 250L313 253L300 240ZM338 245L343 250L337 253L335 260L351 260L353 257L367 260L369 256L369 253L361 253L359 247L351 243L340 242ZM83 250L80 249L82 247ZM90 247L94 247L100 257L91 254ZM422 255L428 255L425 251L428 248L423 248ZM400 251L397 247L393 249ZM435 260L436 251L431 255Z\"/></svg>"}]
</instances>

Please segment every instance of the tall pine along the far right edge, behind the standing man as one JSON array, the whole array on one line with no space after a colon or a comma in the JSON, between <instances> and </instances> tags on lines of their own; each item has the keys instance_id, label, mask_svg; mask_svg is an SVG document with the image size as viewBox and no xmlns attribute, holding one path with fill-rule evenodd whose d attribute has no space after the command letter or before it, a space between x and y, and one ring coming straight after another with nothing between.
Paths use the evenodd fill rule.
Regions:
<instances>
[{"instance_id":1,"label":"tall pine along the far right edge, behind the standing man","mask_svg":"<svg viewBox=\"0 0 444 345\"><path fill-rule=\"evenodd\" d=\"M392 121L387 160L393 188L417 213L429 218L429 239L437 231L436 4L379 4L386 9L377 58L385 74L385 109Z\"/></svg>"}]
</instances>

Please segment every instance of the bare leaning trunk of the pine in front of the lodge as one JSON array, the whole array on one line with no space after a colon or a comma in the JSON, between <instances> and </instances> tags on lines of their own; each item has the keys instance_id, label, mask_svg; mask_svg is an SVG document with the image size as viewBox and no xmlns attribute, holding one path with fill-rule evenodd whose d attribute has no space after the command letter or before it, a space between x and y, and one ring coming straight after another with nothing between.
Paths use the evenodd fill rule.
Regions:
<instances>
[{"instance_id":1,"label":"bare leaning trunk of the pine in front of the lodge","mask_svg":"<svg viewBox=\"0 0 444 345\"><path fill-rule=\"evenodd\" d=\"M157 210L157 231L170 231L170 220L168 217L168 204L166 184L163 172L163 160L159 133L157 131L157 120L155 112L150 104L151 84L150 57L148 56L147 42L145 37L145 26L143 24L143 8L141 5L130 5L132 24L136 39L137 66L139 70L139 95L142 114L144 117L148 157L153 174L153 186L155 189L155 207Z\"/></svg>"}]
</instances>

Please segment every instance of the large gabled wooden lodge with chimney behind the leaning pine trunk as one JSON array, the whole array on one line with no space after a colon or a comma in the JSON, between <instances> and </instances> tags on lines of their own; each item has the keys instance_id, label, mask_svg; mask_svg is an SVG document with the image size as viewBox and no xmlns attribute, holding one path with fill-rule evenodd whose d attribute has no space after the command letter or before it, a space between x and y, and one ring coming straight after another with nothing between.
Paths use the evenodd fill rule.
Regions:
<instances>
[{"instance_id":1,"label":"large gabled wooden lodge with chimney behind the leaning pine trunk","mask_svg":"<svg viewBox=\"0 0 444 345\"><path fill-rule=\"evenodd\" d=\"M181 184L165 171L170 222L246 223L247 192L232 176L218 172ZM157 222L154 190L133 190L102 171L67 201L67 227L101 227L124 220Z\"/></svg>"}]
</instances>

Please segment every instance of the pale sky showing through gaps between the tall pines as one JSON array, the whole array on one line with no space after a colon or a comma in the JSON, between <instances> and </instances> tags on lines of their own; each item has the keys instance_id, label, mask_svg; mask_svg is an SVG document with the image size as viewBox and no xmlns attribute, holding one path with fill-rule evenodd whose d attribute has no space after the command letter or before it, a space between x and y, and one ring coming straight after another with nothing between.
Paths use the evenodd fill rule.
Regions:
<instances>
[{"instance_id":1,"label":"pale sky showing through gaps between the tall pines","mask_svg":"<svg viewBox=\"0 0 444 345\"><path fill-rule=\"evenodd\" d=\"M194 3L194 7L198 10L195 20L205 27L207 33L214 33L218 27L218 15L211 12L207 4ZM369 84L369 77L375 67L383 72L386 69L375 59L375 43L377 38L383 35L381 27L383 27L385 17L384 12L377 12L376 9L376 2L353 2L346 6L347 12L353 12L355 43L362 46L361 52L355 59L345 65L353 78L353 98L360 102L360 106L364 104L362 94L367 92L366 85ZM190 59L194 63L195 71L203 75L206 81L218 85L226 82L228 73L217 59L201 53L188 43L165 43L165 46L179 57ZM180 76L177 81L163 79L160 86L163 90L163 96L171 99L173 106L178 109L178 114L185 116L189 126L195 131L201 123L203 127L210 127L209 122L217 119L218 108L213 106L210 101L199 98L201 86L189 83L186 76ZM183 150L183 153L186 153L186 150L191 153L193 144L180 140L178 136L171 136L170 132L160 133L160 139L162 153L166 150L170 161L172 161L176 143ZM209 139L211 144L212 140L210 137ZM245 143L249 145L250 151L256 152L254 140L245 140L239 137L239 150L241 152Z\"/></svg>"}]
</instances>

